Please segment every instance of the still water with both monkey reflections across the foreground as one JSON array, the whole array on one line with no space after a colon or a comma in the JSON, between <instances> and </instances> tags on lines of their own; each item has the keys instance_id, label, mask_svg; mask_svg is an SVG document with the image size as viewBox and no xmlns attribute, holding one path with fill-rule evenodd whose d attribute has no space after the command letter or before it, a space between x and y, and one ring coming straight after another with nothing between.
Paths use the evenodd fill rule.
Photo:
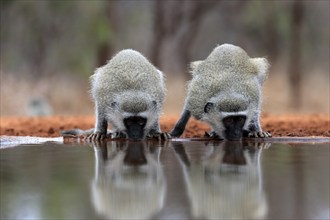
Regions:
<instances>
[{"instance_id":1,"label":"still water with both monkey reflections across the foreground","mask_svg":"<svg viewBox=\"0 0 330 220\"><path fill-rule=\"evenodd\" d=\"M329 219L329 144L0 149L1 219Z\"/></svg>"}]
</instances>

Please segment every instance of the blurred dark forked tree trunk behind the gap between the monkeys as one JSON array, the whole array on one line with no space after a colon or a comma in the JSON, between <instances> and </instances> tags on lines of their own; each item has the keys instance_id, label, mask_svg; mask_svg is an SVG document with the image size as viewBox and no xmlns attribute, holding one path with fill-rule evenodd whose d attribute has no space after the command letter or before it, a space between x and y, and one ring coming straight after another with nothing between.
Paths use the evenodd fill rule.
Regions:
<instances>
[{"instance_id":1,"label":"blurred dark forked tree trunk behind the gap between the monkeys","mask_svg":"<svg viewBox=\"0 0 330 220\"><path fill-rule=\"evenodd\" d=\"M154 2L154 37L151 43L151 61L162 68L161 55L166 41L175 41L176 67L174 72L186 72L191 61L191 48L205 13L219 1L162 1ZM186 74L187 78L189 77Z\"/></svg>"}]
</instances>

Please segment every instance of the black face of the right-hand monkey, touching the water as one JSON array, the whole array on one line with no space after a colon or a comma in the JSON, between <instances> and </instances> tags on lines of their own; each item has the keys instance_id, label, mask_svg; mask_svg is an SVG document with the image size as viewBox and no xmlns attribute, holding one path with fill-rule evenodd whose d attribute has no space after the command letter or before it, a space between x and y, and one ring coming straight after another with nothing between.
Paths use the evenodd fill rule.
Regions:
<instances>
[{"instance_id":1,"label":"black face of the right-hand monkey, touching the water","mask_svg":"<svg viewBox=\"0 0 330 220\"><path fill-rule=\"evenodd\" d=\"M222 119L225 127L225 138L227 140L240 140L243 136L245 120L246 116L244 115L228 116Z\"/></svg>"}]
</instances>

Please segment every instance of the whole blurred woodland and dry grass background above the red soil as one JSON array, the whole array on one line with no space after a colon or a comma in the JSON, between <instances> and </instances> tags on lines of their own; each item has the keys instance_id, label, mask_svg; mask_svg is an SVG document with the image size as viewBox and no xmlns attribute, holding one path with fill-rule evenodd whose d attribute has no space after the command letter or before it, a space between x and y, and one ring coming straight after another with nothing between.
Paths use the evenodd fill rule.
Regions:
<instances>
[{"instance_id":1,"label":"whole blurred woodland and dry grass background above the red soil","mask_svg":"<svg viewBox=\"0 0 330 220\"><path fill-rule=\"evenodd\" d=\"M181 112L188 64L223 43L271 63L266 113L329 114L329 1L1 0L1 116L94 114L89 79L116 52L166 75Z\"/></svg>"}]
</instances>

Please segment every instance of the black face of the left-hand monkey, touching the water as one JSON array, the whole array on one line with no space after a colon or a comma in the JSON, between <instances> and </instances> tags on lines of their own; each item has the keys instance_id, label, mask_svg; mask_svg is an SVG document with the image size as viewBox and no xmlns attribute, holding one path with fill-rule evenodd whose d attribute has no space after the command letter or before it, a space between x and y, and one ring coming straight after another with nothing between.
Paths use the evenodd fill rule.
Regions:
<instances>
[{"instance_id":1,"label":"black face of the left-hand monkey, touching the water","mask_svg":"<svg viewBox=\"0 0 330 220\"><path fill-rule=\"evenodd\" d=\"M124 125L128 138L142 139L144 137L144 127L147 119L140 116L132 116L124 119Z\"/></svg>"}]
</instances>

